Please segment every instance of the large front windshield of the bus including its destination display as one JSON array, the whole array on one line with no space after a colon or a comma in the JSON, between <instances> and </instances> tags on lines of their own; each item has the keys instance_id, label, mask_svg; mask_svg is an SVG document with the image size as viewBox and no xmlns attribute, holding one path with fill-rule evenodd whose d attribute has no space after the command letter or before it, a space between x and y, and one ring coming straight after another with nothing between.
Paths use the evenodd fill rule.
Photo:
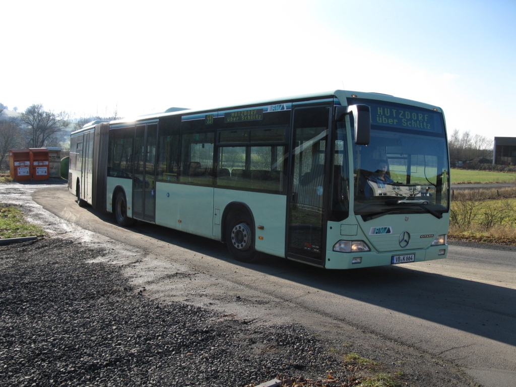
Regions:
<instances>
[{"instance_id":1,"label":"large front windshield of the bus including its destination display","mask_svg":"<svg viewBox=\"0 0 516 387\"><path fill-rule=\"evenodd\" d=\"M371 112L370 143L353 146L354 214L365 221L385 214L441 218L449 205L442 114L373 100L352 103Z\"/></svg>"}]
</instances>

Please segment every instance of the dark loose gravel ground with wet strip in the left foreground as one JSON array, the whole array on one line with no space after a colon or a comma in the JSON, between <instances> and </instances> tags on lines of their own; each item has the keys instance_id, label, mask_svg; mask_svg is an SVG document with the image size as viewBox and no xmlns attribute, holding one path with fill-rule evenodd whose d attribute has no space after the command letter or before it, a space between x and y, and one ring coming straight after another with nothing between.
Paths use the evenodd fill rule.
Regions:
<instances>
[{"instance_id":1,"label":"dark loose gravel ground with wet strip in the left foreground","mask_svg":"<svg viewBox=\"0 0 516 387\"><path fill-rule=\"evenodd\" d=\"M124 264L107 263L116 261L112 246L12 188L0 201L51 236L0 246L0 387L244 387L273 378L350 386L380 373L398 386L473 385L453 365L385 338L357 333L336 343L301 324L261 325L147 297ZM371 361L346 359L350 352Z\"/></svg>"}]
</instances>

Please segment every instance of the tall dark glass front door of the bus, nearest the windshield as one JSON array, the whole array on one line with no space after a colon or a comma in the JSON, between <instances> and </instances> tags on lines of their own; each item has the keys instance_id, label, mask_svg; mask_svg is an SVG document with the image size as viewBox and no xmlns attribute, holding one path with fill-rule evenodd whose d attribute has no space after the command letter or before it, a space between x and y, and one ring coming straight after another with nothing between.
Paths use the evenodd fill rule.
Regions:
<instances>
[{"instance_id":1,"label":"tall dark glass front door of the bus, nearest the windshield","mask_svg":"<svg viewBox=\"0 0 516 387\"><path fill-rule=\"evenodd\" d=\"M287 257L324 265L328 106L298 107L292 128Z\"/></svg>"}]
</instances>

